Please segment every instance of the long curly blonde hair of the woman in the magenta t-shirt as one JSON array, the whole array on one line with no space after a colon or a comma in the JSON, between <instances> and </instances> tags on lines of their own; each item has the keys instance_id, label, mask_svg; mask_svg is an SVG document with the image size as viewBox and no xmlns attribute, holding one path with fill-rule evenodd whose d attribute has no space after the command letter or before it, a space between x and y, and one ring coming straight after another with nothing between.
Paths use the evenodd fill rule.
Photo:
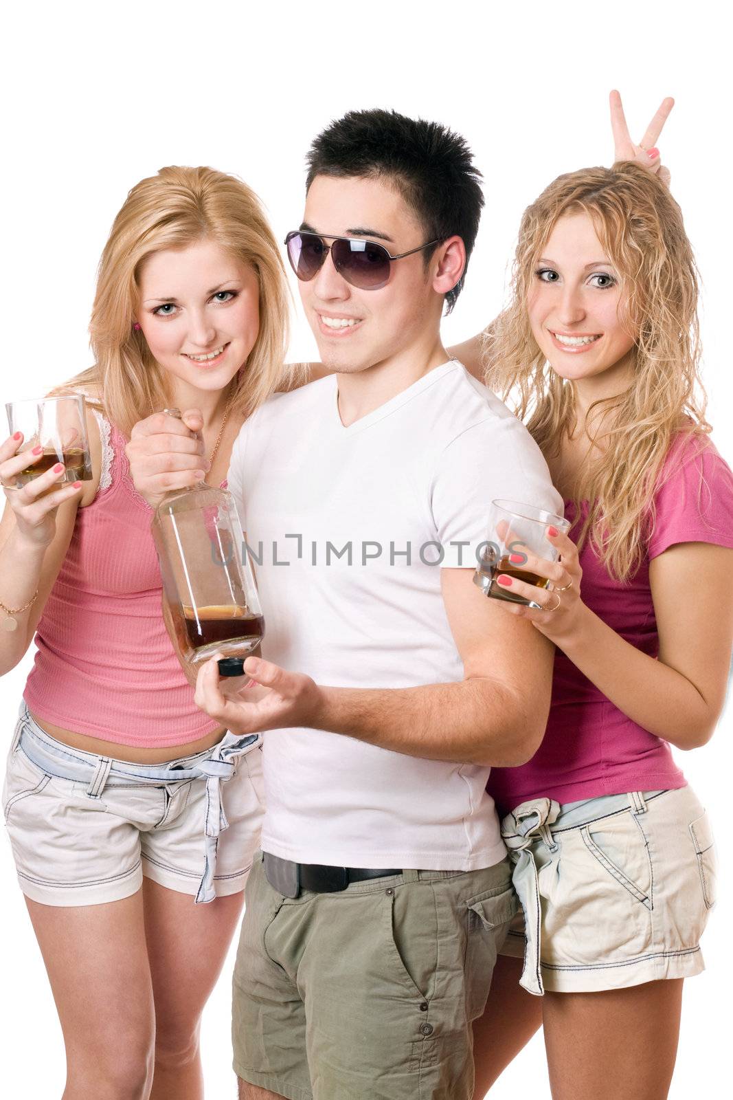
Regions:
<instances>
[{"instance_id":1,"label":"long curly blonde hair of the woman in the magenta t-shirt","mask_svg":"<svg viewBox=\"0 0 733 1100\"><path fill-rule=\"evenodd\" d=\"M595 402L585 429L602 454L588 463L574 504L588 501L578 544L588 538L604 566L628 581L654 522L653 497L679 432L704 436L700 383L698 273L681 211L645 168L619 162L557 179L524 211L509 306L485 337L486 382L512 404L545 457L558 454L576 425L575 386L552 370L530 327L527 299L536 263L565 215L587 213L621 278L623 324L634 339L633 382ZM591 428L589 416L595 414ZM602 414L596 417L596 414Z\"/></svg>"}]
</instances>

